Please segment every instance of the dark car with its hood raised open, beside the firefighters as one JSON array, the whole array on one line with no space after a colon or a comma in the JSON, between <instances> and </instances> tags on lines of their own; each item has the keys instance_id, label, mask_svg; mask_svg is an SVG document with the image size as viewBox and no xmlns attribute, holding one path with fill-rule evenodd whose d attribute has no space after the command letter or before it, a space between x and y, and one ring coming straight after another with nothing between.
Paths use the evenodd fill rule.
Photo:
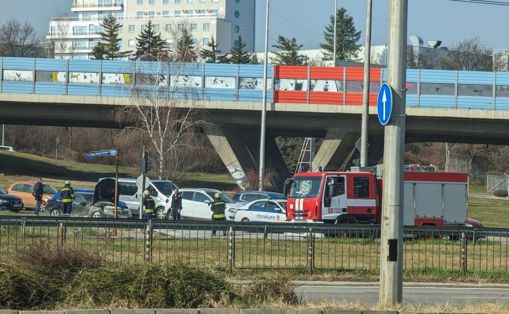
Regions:
<instances>
[{"instance_id":1,"label":"dark car with its hood raised open, beside the firefighters","mask_svg":"<svg viewBox=\"0 0 509 314\"><path fill-rule=\"evenodd\" d=\"M115 179L104 179L96 184L94 192L76 192L72 203L73 216L115 216ZM58 215L64 212L62 198L58 197L48 201L47 209L50 214ZM118 218L132 218L132 213L124 202L117 204Z\"/></svg>"}]
</instances>

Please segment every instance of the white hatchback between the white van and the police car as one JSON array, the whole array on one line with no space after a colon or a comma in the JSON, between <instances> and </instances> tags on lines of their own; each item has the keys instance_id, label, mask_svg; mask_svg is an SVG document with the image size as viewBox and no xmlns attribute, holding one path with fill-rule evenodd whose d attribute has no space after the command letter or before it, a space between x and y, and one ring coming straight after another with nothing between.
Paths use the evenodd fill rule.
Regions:
<instances>
[{"instance_id":1,"label":"white hatchback between the white van and the police car","mask_svg":"<svg viewBox=\"0 0 509 314\"><path fill-rule=\"evenodd\" d=\"M182 211L180 216L186 220L201 220L210 221L212 220L212 211L210 210L210 204L214 201L214 194L219 193L221 199L226 203L226 219L233 221L235 219L235 213L241 206L235 203L231 198L222 194L221 192L213 189L182 189L179 190L182 195ZM172 218L171 201L164 207L164 212L168 219ZM157 218L161 219L159 215ZM162 217L164 218L164 217Z\"/></svg>"}]
</instances>

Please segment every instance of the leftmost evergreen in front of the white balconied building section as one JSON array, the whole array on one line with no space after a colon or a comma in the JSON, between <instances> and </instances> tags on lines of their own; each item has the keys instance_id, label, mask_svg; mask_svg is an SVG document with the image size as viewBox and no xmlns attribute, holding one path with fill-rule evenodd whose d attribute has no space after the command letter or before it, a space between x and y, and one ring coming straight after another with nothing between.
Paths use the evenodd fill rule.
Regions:
<instances>
[{"instance_id":1,"label":"leftmost evergreen in front of the white balconied building section","mask_svg":"<svg viewBox=\"0 0 509 314\"><path fill-rule=\"evenodd\" d=\"M120 52L119 30L122 24L117 21L117 18L113 14L109 13L106 15L100 25L103 31L97 33L101 35L101 41L92 49L94 59L115 60L128 56L132 52Z\"/></svg>"}]
</instances>

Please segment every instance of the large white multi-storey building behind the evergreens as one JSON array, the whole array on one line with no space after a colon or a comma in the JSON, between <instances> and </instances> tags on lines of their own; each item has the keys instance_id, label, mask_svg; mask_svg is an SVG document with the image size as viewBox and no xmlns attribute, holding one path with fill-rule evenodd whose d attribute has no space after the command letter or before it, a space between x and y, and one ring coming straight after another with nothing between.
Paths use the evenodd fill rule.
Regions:
<instances>
[{"instance_id":1,"label":"large white multi-storey building behind the evergreens","mask_svg":"<svg viewBox=\"0 0 509 314\"><path fill-rule=\"evenodd\" d=\"M55 43L55 58L89 59L100 42L102 19L114 14L122 24L122 51L135 50L136 37L152 20L163 39L172 44L176 32L189 27L193 41L207 46L214 36L223 53L237 45L238 36L254 51L253 0L74 0L77 16L53 17L46 38Z\"/></svg>"}]
</instances>

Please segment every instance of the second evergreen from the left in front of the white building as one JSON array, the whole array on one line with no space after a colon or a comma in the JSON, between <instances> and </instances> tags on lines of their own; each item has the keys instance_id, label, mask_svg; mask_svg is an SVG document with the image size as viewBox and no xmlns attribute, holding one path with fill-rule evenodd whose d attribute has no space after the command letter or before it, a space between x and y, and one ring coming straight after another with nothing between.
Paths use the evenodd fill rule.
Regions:
<instances>
[{"instance_id":1,"label":"second evergreen from the left in front of the white building","mask_svg":"<svg viewBox=\"0 0 509 314\"><path fill-rule=\"evenodd\" d=\"M161 38L161 33L155 32L151 20L146 28L136 37L136 59L144 61L167 61L169 48L166 41Z\"/></svg>"}]
</instances>

